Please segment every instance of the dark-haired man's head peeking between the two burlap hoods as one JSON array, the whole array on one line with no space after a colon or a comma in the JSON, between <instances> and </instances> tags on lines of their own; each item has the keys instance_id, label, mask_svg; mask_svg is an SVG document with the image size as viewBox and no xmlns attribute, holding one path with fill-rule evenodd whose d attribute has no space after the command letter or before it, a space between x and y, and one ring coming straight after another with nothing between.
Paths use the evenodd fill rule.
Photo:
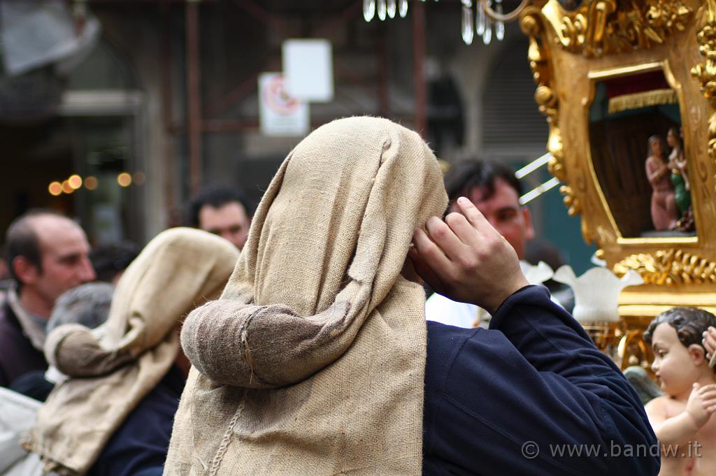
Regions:
<instances>
[{"instance_id":1,"label":"dark-haired man's head peeking between the two burlap hoods","mask_svg":"<svg viewBox=\"0 0 716 476\"><path fill-rule=\"evenodd\" d=\"M209 188L189 203L187 221L193 228L231 241L241 250L248 238L251 210L241 193L232 188Z\"/></svg>"}]
</instances>

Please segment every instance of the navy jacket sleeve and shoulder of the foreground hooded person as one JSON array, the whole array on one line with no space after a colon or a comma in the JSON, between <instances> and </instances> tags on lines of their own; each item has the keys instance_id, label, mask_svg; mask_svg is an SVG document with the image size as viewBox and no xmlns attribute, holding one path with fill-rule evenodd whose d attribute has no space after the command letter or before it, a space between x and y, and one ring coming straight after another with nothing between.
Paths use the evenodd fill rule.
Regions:
<instances>
[{"instance_id":1,"label":"navy jacket sleeve and shoulder of the foreground hooded person","mask_svg":"<svg viewBox=\"0 0 716 476\"><path fill-rule=\"evenodd\" d=\"M659 472L636 392L541 286L510 296L490 330L427 326L424 475Z\"/></svg>"}]
</instances>

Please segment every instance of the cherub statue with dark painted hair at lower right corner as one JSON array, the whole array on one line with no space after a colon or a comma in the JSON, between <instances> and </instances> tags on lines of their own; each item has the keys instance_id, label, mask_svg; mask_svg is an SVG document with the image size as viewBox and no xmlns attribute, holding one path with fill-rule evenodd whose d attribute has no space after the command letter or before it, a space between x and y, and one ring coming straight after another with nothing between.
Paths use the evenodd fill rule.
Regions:
<instances>
[{"instance_id":1,"label":"cherub statue with dark painted hair at lower right corner","mask_svg":"<svg viewBox=\"0 0 716 476\"><path fill-rule=\"evenodd\" d=\"M674 307L644 332L664 392L645 407L662 445L659 476L716 475L716 381L701 340L713 326L708 311Z\"/></svg>"}]
</instances>

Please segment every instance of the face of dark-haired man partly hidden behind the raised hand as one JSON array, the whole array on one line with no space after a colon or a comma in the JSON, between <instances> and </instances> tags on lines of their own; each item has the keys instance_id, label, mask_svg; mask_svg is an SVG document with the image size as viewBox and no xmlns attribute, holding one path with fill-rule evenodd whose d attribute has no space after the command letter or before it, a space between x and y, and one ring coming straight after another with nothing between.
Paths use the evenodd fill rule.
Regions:
<instances>
[{"instance_id":1,"label":"face of dark-haired man partly hidden behind the raised hand","mask_svg":"<svg viewBox=\"0 0 716 476\"><path fill-rule=\"evenodd\" d=\"M495 180L495 193L487 199L483 199L484 195L485 190L475 187L467 198L515 248L518 258L523 259L527 242L534 238L530 210L520 205L517 190L501 178ZM450 205L450 212L459 211L457 204Z\"/></svg>"}]
</instances>

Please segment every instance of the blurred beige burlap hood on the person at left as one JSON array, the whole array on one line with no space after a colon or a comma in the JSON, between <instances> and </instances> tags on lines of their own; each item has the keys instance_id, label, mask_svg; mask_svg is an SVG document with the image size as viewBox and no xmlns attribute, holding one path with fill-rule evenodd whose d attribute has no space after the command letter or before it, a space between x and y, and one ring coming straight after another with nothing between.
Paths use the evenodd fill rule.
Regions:
<instances>
[{"instance_id":1,"label":"blurred beige burlap hood on the person at left","mask_svg":"<svg viewBox=\"0 0 716 476\"><path fill-rule=\"evenodd\" d=\"M179 351L178 324L216 299L238 259L218 236L190 228L157 235L117 283L107 322L59 326L45 344L70 378L38 413L32 450L45 470L82 475L115 429L163 379Z\"/></svg>"}]
</instances>

